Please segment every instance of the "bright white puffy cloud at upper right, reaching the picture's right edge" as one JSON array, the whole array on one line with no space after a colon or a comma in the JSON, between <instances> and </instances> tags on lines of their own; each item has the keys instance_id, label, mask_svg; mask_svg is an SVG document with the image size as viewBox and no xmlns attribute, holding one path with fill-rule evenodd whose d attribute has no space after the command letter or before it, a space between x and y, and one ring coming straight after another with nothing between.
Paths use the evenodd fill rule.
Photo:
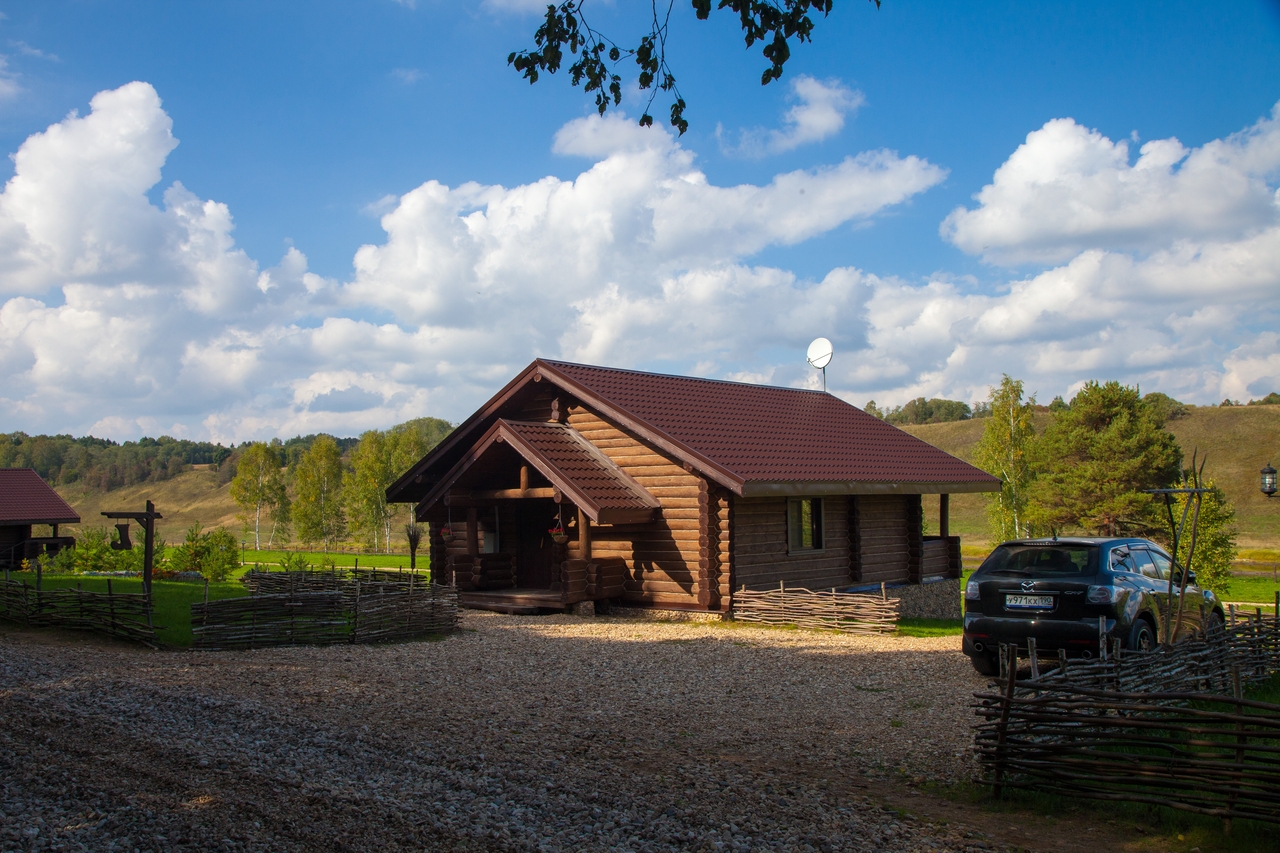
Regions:
<instances>
[{"instance_id":1,"label":"bright white puffy cloud at upper right, reaching the picture's right edge","mask_svg":"<svg viewBox=\"0 0 1280 853\"><path fill-rule=\"evenodd\" d=\"M1053 119L955 209L942 236L998 264L1057 263L1088 248L1153 251L1230 240L1280 223L1280 104L1270 118L1190 150L1178 140L1112 142Z\"/></svg>"}]
</instances>

